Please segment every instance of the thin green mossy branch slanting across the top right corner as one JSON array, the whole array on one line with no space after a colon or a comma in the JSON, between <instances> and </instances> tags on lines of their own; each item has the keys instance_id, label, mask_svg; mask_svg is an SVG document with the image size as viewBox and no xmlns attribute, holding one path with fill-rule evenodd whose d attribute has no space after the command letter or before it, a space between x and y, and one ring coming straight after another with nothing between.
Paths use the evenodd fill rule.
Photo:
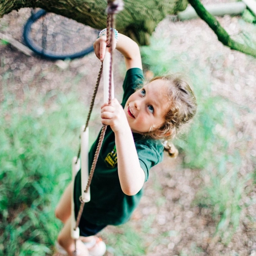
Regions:
<instances>
[{"instance_id":1,"label":"thin green mossy branch slanting across the top right corner","mask_svg":"<svg viewBox=\"0 0 256 256\"><path fill-rule=\"evenodd\" d=\"M202 5L199 0L188 0L192 7L195 9L197 15L204 20L208 26L213 29L214 33L217 35L218 40L223 43L223 45L228 46L232 50L237 50L239 52L243 52L248 55L252 55L256 57L256 49L249 47L248 45L244 45L242 43L238 43L230 38L227 31L221 27L220 23L212 16Z\"/></svg>"}]
</instances>

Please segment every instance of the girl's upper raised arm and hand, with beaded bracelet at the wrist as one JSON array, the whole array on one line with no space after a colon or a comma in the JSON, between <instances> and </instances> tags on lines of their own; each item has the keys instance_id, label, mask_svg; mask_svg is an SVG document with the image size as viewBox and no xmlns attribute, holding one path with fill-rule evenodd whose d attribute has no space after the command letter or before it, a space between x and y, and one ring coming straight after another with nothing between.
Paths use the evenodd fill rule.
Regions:
<instances>
[{"instance_id":1,"label":"girl's upper raised arm and hand, with beaded bracelet at the wrist","mask_svg":"<svg viewBox=\"0 0 256 256\"><path fill-rule=\"evenodd\" d=\"M93 44L96 56L103 61L106 52L106 35L102 35ZM114 39L113 47L116 48L125 57L126 70L138 67L142 69L142 62L140 57L140 48L128 36L118 33L118 40Z\"/></svg>"}]
</instances>

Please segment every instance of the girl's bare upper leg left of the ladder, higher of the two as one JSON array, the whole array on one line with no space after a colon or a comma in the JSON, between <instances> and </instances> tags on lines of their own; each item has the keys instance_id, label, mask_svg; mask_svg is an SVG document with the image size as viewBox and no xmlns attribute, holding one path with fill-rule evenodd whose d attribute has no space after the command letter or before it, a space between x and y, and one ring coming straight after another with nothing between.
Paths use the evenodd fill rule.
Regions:
<instances>
[{"instance_id":1,"label":"girl's bare upper leg left of the ladder, higher of the two","mask_svg":"<svg viewBox=\"0 0 256 256\"><path fill-rule=\"evenodd\" d=\"M69 183L66 190L64 191L59 204L55 209L55 216L61 220L63 223L69 219L71 215L71 192L73 186L72 183Z\"/></svg>"}]
</instances>

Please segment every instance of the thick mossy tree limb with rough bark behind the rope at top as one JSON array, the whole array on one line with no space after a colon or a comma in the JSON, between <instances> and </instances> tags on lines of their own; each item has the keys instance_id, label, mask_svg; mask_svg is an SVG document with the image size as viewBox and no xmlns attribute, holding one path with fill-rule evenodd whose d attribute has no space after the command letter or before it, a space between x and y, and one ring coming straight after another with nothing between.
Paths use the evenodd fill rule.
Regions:
<instances>
[{"instance_id":1,"label":"thick mossy tree limb with rough bark behind the rope at top","mask_svg":"<svg viewBox=\"0 0 256 256\"><path fill-rule=\"evenodd\" d=\"M116 15L116 29L140 45L149 45L157 24L168 14L185 10L187 0L124 0ZM0 0L0 18L12 10L39 7L96 29L106 28L106 0Z\"/></svg>"}]
</instances>

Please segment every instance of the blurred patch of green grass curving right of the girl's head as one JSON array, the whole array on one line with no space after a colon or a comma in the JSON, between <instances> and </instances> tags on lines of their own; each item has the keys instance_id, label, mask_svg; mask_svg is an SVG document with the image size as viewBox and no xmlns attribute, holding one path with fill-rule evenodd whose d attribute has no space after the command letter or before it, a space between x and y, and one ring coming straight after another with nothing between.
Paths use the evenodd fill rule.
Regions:
<instances>
[{"instance_id":1,"label":"blurred patch of green grass curving right of the girl's head","mask_svg":"<svg viewBox=\"0 0 256 256\"><path fill-rule=\"evenodd\" d=\"M157 36L156 36L157 37ZM200 69L197 60L190 62L187 52L166 52L171 40L157 37L150 47L142 48L146 69L154 75L171 71L188 74L194 85L198 111L188 132L175 139L185 168L200 169L206 181L197 193L195 204L211 209L216 221L216 235L229 242L239 225L243 205L241 197L251 175L241 175L243 149L234 147L237 130L234 120L240 119L246 106L239 106L211 91L207 68ZM227 237L227 234L228 237Z\"/></svg>"}]
</instances>

